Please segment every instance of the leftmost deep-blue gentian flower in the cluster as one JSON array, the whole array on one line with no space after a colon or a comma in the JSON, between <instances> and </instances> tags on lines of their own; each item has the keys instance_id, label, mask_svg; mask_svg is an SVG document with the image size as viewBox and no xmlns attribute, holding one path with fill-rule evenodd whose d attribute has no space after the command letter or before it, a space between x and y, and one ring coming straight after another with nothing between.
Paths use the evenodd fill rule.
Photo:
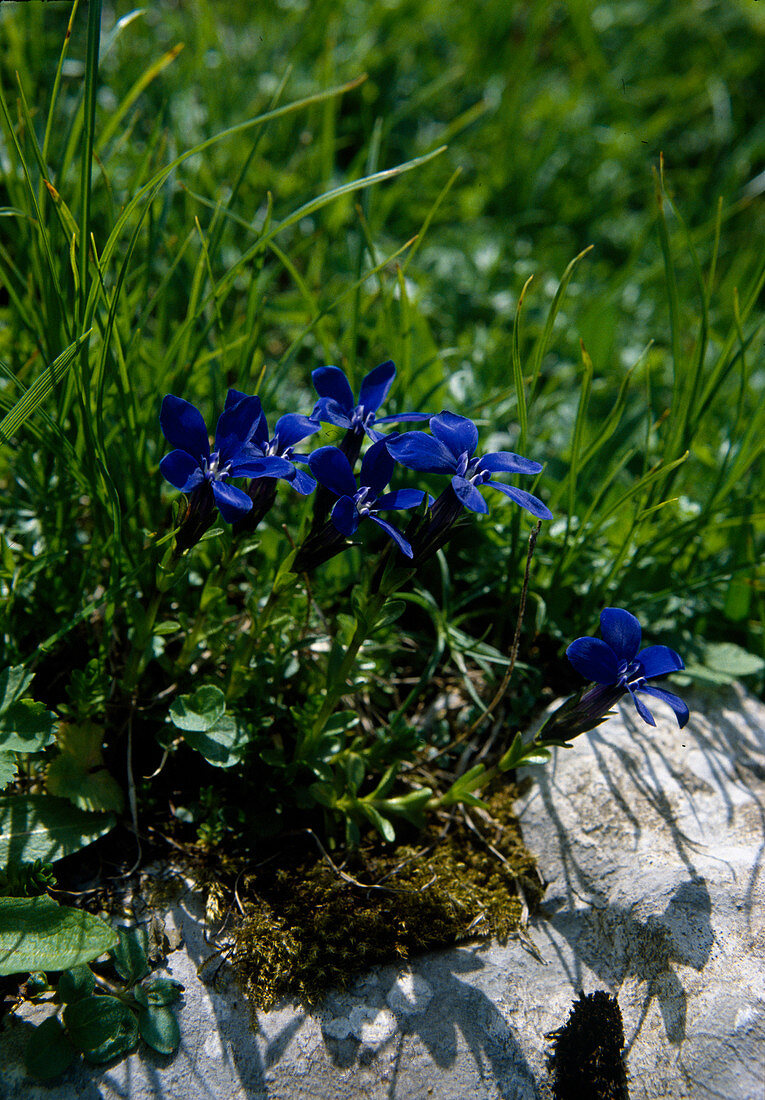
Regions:
<instances>
[{"instance_id":1,"label":"leftmost deep-blue gentian flower in the cluster","mask_svg":"<svg viewBox=\"0 0 765 1100\"><path fill-rule=\"evenodd\" d=\"M227 402L218 419L212 451L201 413L190 402L167 394L160 413L164 437L176 448L160 463L162 476L182 493L193 493L207 483L227 524L252 508L250 497L229 485L229 477L287 477L294 470L285 459L244 453L263 410L258 397L238 396L240 399Z\"/></svg>"}]
</instances>

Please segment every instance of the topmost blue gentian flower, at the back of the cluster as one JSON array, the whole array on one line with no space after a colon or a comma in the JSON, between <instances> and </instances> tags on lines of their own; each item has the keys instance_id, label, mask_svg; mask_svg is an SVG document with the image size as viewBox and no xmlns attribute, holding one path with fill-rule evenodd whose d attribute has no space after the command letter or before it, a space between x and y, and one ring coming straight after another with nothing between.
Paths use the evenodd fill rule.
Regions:
<instances>
[{"instance_id":1,"label":"topmost blue gentian flower, at the back of the cluster","mask_svg":"<svg viewBox=\"0 0 765 1100\"><path fill-rule=\"evenodd\" d=\"M375 366L365 376L361 383L358 403L353 398L353 391L345 372L339 366L319 366L310 376L319 395L319 400L310 415L313 420L334 424L338 428L352 430L360 436L365 432L376 442L383 438L383 433L373 425L413 422L428 418L427 413L398 413L381 417L376 415L396 376L392 360Z\"/></svg>"}]
</instances>

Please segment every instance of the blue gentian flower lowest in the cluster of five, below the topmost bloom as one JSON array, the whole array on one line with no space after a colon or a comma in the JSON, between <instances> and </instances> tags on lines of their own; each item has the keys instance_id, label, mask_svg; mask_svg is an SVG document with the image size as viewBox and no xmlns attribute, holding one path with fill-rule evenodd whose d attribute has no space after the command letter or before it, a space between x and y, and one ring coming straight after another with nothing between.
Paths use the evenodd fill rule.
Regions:
<instances>
[{"instance_id":1,"label":"blue gentian flower lowest in the cluster of five, below the topmost bloom","mask_svg":"<svg viewBox=\"0 0 765 1100\"><path fill-rule=\"evenodd\" d=\"M320 447L309 457L308 465L321 484L338 497L331 512L331 521L338 531L349 538L357 531L362 519L371 519L393 539L403 554L412 557L412 547L401 531L381 519L378 513L394 508L416 508L426 494L416 488L382 493L395 465L384 440L373 443L364 454L359 485L350 462L337 447Z\"/></svg>"}]
</instances>

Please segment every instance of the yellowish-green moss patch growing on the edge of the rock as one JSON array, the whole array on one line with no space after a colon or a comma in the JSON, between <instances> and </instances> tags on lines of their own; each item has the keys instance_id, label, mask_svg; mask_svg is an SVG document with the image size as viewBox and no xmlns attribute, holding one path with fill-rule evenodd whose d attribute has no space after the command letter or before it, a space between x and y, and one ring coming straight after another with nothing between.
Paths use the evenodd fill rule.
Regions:
<instances>
[{"instance_id":1,"label":"yellowish-green moss patch growing on the edge of the rock","mask_svg":"<svg viewBox=\"0 0 765 1100\"><path fill-rule=\"evenodd\" d=\"M233 965L258 1007L306 1003L372 966L466 939L503 939L539 897L506 788L489 799L491 820L434 823L416 847L362 847L343 873L324 858L284 855L245 880ZM478 835L477 835L478 834ZM492 851L493 849L493 851ZM242 891L240 890L240 897Z\"/></svg>"}]
</instances>

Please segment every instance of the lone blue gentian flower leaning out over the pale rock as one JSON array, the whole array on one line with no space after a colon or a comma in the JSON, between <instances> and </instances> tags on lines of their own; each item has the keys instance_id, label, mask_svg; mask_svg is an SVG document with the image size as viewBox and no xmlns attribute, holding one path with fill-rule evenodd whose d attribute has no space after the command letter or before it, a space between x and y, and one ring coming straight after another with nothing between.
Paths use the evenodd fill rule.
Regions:
<instances>
[{"instance_id":1,"label":"lone blue gentian flower leaning out over the pale rock","mask_svg":"<svg viewBox=\"0 0 765 1100\"><path fill-rule=\"evenodd\" d=\"M644 722L656 722L643 700L654 695L667 703L677 717L680 728L688 722L688 707L671 692L653 688L646 681L678 672L685 668L682 659L667 646L648 646L641 649L641 625L634 615L621 607L606 607L600 616L602 638L577 638L566 650L571 664L588 680L603 688L629 692Z\"/></svg>"}]
</instances>

